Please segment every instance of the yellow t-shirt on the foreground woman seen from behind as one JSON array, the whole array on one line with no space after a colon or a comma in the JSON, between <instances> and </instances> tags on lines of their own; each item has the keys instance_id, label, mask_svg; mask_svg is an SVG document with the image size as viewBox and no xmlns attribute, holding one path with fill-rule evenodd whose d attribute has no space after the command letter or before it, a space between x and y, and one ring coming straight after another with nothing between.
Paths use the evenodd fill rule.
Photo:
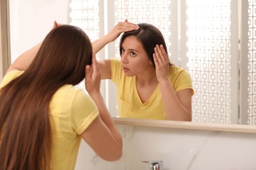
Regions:
<instances>
[{"instance_id":1,"label":"yellow t-shirt on the foreground woman seen from behind","mask_svg":"<svg viewBox=\"0 0 256 170\"><path fill-rule=\"evenodd\" d=\"M3 78L0 88L22 73L23 71L9 72ZM53 122L51 169L75 169L81 133L98 116L98 109L85 92L72 85L64 85L53 95L50 115Z\"/></svg>"}]
</instances>

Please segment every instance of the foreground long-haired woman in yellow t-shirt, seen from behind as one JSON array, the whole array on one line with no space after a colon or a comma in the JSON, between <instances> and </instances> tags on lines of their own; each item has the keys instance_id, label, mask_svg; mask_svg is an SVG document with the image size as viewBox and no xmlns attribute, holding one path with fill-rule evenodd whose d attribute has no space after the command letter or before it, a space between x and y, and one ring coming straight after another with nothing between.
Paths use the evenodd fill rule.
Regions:
<instances>
[{"instance_id":1,"label":"foreground long-haired woman in yellow t-shirt, seen from behind","mask_svg":"<svg viewBox=\"0 0 256 170\"><path fill-rule=\"evenodd\" d=\"M74 88L83 78L90 97ZM74 169L82 138L100 158L118 160L121 136L99 88L89 37L54 22L1 83L0 169Z\"/></svg>"}]
</instances>

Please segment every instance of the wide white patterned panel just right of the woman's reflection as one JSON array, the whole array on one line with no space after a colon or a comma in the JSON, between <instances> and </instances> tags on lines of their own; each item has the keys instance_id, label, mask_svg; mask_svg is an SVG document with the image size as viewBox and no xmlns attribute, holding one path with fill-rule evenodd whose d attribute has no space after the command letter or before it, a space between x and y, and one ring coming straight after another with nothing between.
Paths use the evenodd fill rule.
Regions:
<instances>
[{"instance_id":1,"label":"wide white patterned panel just right of the woman's reflection","mask_svg":"<svg viewBox=\"0 0 256 170\"><path fill-rule=\"evenodd\" d=\"M230 124L230 0L186 1L193 120Z\"/></svg>"}]
</instances>

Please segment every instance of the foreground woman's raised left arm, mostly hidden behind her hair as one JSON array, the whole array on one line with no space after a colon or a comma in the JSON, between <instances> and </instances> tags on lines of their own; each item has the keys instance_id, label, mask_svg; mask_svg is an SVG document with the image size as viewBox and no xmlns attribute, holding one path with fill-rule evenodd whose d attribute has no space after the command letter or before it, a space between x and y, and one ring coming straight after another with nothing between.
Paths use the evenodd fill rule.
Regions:
<instances>
[{"instance_id":1,"label":"foreground woman's raised left arm, mostly hidden behind her hair","mask_svg":"<svg viewBox=\"0 0 256 170\"><path fill-rule=\"evenodd\" d=\"M57 26L58 24L54 22L53 28ZM40 47L41 47L41 43L37 44L36 46L33 46L33 48L30 48L30 50L21 54L9 67L9 69L7 70L7 73L12 70L25 71L26 69L28 69L28 67L30 67L30 64L35 58L35 55L37 54Z\"/></svg>"}]
</instances>

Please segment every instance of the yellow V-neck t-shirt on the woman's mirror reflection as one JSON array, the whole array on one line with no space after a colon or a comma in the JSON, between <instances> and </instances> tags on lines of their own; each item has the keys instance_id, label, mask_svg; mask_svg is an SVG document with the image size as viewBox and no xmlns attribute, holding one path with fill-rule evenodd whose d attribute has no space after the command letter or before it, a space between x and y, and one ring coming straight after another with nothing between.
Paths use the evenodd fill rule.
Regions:
<instances>
[{"instance_id":1,"label":"yellow V-neck t-shirt on the woman's mirror reflection","mask_svg":"<svg viewBox=\"0 0 256 170\"><path fill-rule=\"evenodd\" d=\"M111 80L117 88L119 117L166 120L159 84L148 100L142 103L137 92L136 76L125 76L119 59L111 59L111 72ZM169 69L168 78L175 92L190 88L194 94L191 76L186 69L173 66Z\"/></svg>"}]
</instances>

